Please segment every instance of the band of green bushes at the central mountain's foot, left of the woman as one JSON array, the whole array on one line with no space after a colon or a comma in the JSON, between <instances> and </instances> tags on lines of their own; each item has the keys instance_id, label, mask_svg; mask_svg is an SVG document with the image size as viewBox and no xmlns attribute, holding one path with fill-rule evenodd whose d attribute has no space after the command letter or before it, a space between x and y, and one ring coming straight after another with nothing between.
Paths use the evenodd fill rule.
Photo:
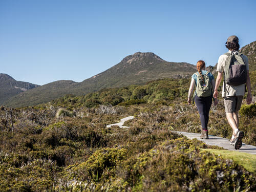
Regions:
<instances>
[{"instance_id":1,"label":"band of green bushes at the central mountain's foot, left of the woman","mask_svg":"<svg viewBox=\"0 0 256 192\"><path fill-rule=\"evenodd\" d=\"M71 108L92 107L99 104L131 105L158 102L168 105L186 101L189 80L190 78L165 78L147 82L142 86L131 85L123 88L102 89L84 96L66 95L49 102L47 105L69 106Z\"/></svg>"}]
</instances>

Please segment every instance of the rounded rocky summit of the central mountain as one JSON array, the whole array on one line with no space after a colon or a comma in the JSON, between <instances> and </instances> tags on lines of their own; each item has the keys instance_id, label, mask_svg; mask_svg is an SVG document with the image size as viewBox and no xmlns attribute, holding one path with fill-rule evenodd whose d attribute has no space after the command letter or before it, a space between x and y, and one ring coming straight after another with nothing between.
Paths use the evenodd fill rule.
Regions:
<instances>
[{"instance_id":1,"label":"rounded rocky summit of the central mountain","mask_svg":"<svg viewBox=\"0 0 256 192\"><path fill-rule=\"evenodd\" d=\"M159 60L159 61L165 61L162 58L160 58L159 56L157 56L156 54L151 53L151 52L145 52L145 53L136 52L133 55L129 55L127 57L124 57L121 62L132 63L133 61L143 60L145 58L150 58L151 60L155 59L155 60Z\"/></svg>"}]
</instances>

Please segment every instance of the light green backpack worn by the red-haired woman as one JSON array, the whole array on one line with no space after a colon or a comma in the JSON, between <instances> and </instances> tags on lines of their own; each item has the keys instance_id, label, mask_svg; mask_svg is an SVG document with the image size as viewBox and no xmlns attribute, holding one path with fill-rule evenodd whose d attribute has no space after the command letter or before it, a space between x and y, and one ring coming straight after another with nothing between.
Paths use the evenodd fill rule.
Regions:
<instances>
[{"instance_id":1,"label":"light green backpack worn by the red-haired woman","mask_svg":"<svg viewBox=\"0 0 256 192\"><path fill-rule=\"evenodd\" d=\"M203 74L203 75L200 75L198 72L196 73L197 88L196 88L196 91L194 92L193 103L194 103L196 95L198 97L209 97L212 95L212 87L211 87L210 78L208 76L208 73L209 73L208 71L206 74Z\"/></svg>"}]
</instances>

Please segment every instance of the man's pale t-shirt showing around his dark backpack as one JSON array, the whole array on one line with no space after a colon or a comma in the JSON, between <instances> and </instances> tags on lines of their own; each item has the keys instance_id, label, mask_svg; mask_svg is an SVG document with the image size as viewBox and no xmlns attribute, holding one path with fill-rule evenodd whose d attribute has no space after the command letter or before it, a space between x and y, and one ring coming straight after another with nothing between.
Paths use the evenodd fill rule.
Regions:
<instances>
[{"instance_id":1,"label":"man's pale t-shirt showing around his dark backpack","mask_svg":"<svg viewBox=\"0 0 256 192\"><path fill-rule=\"evenodd\" d=\"M228 53L231 53L231 51L228 51ZM241 55L245 62L246 69L249 70L249 65L248 65L248 58L245 55ZM224 74L224 69L225 69L225 62L227 60L228 56L223 54L219 57L218 64L217 64L217 70L218 72L222 72ZM229 84L226 84L226 89L224 91L224 83L222 86L222 97L229 97L229 96L239 96L242 95L244 96L245 94L245 84L241 84L240 86L229 86Z\"/></svg>"}]
</instances>

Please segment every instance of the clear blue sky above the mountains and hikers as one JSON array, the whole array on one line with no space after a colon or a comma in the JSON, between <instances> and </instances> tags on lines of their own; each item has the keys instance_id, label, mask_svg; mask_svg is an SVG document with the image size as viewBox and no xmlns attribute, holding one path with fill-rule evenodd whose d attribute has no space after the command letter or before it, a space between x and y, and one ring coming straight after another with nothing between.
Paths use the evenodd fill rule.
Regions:
<instances>
[{"instance_id":1,"label":"clear blue sky above the mountains and hikers","mask_svg":"<svg viewBox=\"0 0 256 192\"><path fill-rule=\"evenodd\" d=\"M80 82L135 52L215 65L228 36L256 40L256 1L0 1L0 73Z\"/></svg>"}]
</instances>

